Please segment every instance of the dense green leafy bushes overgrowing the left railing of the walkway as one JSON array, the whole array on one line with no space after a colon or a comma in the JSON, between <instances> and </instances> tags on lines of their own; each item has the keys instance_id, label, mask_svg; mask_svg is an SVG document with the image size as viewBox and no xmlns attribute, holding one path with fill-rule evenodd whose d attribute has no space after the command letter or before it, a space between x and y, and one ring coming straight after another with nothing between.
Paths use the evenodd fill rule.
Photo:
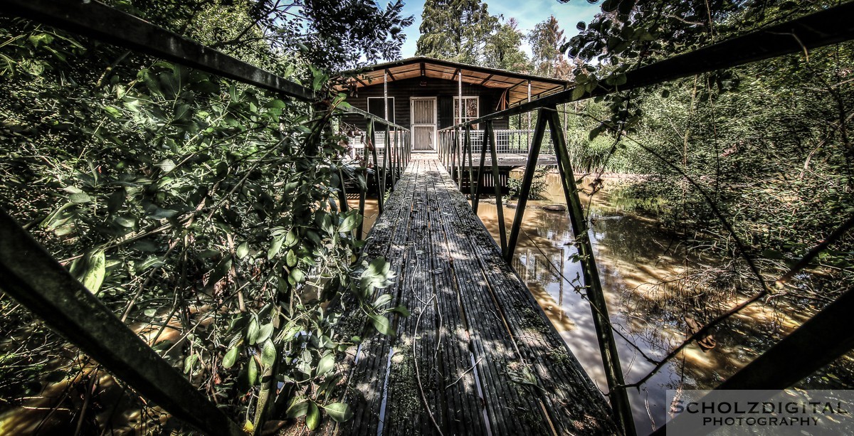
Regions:
<instances>
[{"instance_id":1,"label":"dense green leafy bushes overgrowing the left railing of the walkway","mask_svg":"<svg viewBox=\"0 0 854 436\"><path fill-rule=\"evenodd\" d=\"M327 76L306 59L370 60L401 41L358 30L400 25L400 3L359 3L348 20L366 23L341 20L354 4L301 5L301 37L265 26L281 3L114 4L320 92ZM365 50L284 51L283 34ZM342 99L313 108L26 20L0 17L0 41L0 206L248 431L348 419L336 359L365 320L389 334L389 311L406 311L377 299L383 259L354 264L361 217L337 201L358 171L327 130ZM179 429L14 300L0 307L3 431Z\"/></svg>"}]
</instances>

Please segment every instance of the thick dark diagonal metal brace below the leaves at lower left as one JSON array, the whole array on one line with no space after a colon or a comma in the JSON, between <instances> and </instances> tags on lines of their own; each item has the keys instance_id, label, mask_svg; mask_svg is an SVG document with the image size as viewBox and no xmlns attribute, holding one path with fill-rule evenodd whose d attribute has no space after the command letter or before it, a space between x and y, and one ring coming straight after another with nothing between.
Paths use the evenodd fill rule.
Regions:
<instances>
[{"instance_id":1,"label":"thick dark diagonal metal brace below the leaves at lower left","mask_svg":"<svg viewBox=\"0 0 854 436\"><path fill-rule=\"evenodd\" d=\"M245 435L0 208L0 289L181 421Z\"/></svg>"}]
</instances>

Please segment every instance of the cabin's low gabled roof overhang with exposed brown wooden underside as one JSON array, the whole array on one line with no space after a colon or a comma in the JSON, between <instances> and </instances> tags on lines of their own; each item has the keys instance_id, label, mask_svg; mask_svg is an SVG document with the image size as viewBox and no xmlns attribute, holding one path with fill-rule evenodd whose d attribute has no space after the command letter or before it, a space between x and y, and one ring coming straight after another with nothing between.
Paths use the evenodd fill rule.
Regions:
<instances>
[{"instance_id":1,"label":"cabin's low gabled roof overhang with exposed brown wooden underside","mask_svg":"<svg viewBox=\"0 0 854 436\"><path fill-rule=\"evenodd\" d=\"M571 82L559 78L513 73L495 68L477 67L459 62L417 56L342 73L342 76L349 77L347 79L348 86L338 85L336 89L355 88L358 90L366 86L383 84L384 78L387 78L389 82L418 77L456 81L459 80L460 75L466 84L478 84L487 88L506 90L506 99L511 106L528 101L528 84L530 84L531 99L547 96L572 86Z\"/></svg>"}]
</instances>

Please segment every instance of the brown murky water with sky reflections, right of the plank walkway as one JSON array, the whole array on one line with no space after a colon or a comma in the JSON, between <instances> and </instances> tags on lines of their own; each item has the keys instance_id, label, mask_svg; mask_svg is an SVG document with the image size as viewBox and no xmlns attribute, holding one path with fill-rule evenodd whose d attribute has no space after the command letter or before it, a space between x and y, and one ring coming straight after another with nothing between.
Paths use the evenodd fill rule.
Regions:
<instances>
[{"instance_id":1,"label":"brown murky water with sky reflections, right of the plank walkway","mask_svg":"<svg viewBox=\"0 0 854 436\"><path fill-rule=\"evenodd\" d=\"M569 219L566 212L547 212L540 208L565 205L558 175L547 175L547 183L547 200L529 201L526 208L513 267L596 385L606 392L590 307L574 286L581 283L582 270L570 260L575 248L571 244ZM674 289L678 291L680 279L699 270L714 271L719 261L687 253L673 235L661 230L653 220L627 213L627 199L619 195L623 183L629 182L606 180L605 189L592 201L584 195L582 201L586 207L589 201L594 254L611 323L625 336L625 339L617 337L617 346L626 381L632 383L654 366L641 352L658 360L687 337L684 317L690 317L692 312L675 309L668 303L673 299ZM505 207L508 233L515 212ZM478 215L497 240L494 202L481 203ZM561 271L565 280L560 279L557 271ZM727 328L717 330L715 348L704 352L696 343L688 346L641 386L640 391L631 390L638 433L648 434L666 421L667 390L717 386L765 350L775 334L790 331L806 317L807 314L787 317L780 311L754 305L729 321Z\"/></svg>"}]
</instances>

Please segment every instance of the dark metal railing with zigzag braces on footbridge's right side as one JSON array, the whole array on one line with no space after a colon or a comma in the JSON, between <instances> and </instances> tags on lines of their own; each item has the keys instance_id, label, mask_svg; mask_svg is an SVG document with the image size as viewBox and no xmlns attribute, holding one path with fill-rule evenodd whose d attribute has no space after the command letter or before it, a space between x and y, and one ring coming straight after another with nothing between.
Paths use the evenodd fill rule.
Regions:
<instances>
[{"instance_id":1,"label":"dark metal railing with zigzag braces on footbridge's right side","mask_svg":"<svg viewBox=\"0 0 854 436\"><path fill-rule=\"evenodd\" d=\"M605 367L605 378L610 391L611 406L617 422L623 427L625 433L634 434L635 424L629 404L627 386L623 378L623 370L617 354L616 342L611 331L605 294L602 291L599 272L593 256L593 247L588 237L588 224L582 210L578 189L576 189L573 168L557 105L586 100L595 96L604 96L618 91L635 90L694 74L738 67L749 62L767 60L781 55L805 52L809 49L849 41L854 39L854 20L850 20L851 16L854 16L854 3L837 5L822 12L769 26L629 71L625 74L625 84L620 86L599 84L594 90L584 92L570 88L534 102L526 102L500 112L489 113L478 119L442 130L444 139L440 141L438 149L442 163L452 173L458 175L460 189L463 186L462 175L464 171L468 172L469 180L477 181L477 183L470 183L472 209L477 213L477 205L483 188L482 176L487 150L491 154L494 178L496 180L498 178L497 154L500 142L497 131L494 129L494 120L532 111L537 113L535 130L529 148L526 150L528 153L527 165L509 236L506 235L500 189L495 188L494 193L500 248L508 263L512 261L518 243L534 171L543 150L543 140L550 134L558 161L564 196L569 206L570 224L573 233L576 235L575 242L578 254L582 259L583 279L593 312L597 340ZM472 130L475 126L484 126L485 129L483 131ZM483 144L479 149L479 165L474 164L472 159L475 153L475 143ZM810 253L807 254L807 256L809 255ZM806 256L804 256L805 258ZM768 356L766 354L759 356L753 363L748 364L731 377L731 382L725 382L719 388L781 390L792 386L805 376L821 369L833 359L850 351L851 347L854 346L854 321L851 320L851 317L845 317L840 313L854 311L854 297L851 295L854 295L851 291L843 294L836 302L795 330L793 334L781 340L766 353ZM840 321L839 317L844 317L845 320ZM834 327L832 330L823 329L828 328L828 326ZM828 341L804 339L827 338L827 331L838 333L831 341L833 344L828 345L826 343ZM781 360L771 358L772 354L776 358L786 357L793 359L793 361L797 357L801 358L797 358L797 365L781 365L779 364ZM804 356L810 356L810 358L804 359ZM659 427L656 434L664 434L665 428L666 426Z\"/></svg>"}]
</instances>

